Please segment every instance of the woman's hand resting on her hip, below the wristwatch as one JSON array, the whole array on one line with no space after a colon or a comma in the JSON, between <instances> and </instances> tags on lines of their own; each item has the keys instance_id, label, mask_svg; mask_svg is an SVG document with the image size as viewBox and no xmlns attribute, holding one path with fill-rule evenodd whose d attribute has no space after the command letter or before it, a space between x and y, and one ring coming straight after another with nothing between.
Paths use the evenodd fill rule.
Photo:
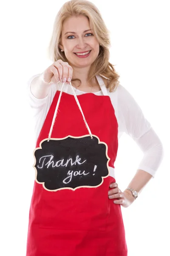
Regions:
<instances>
[{"instance_id":1,"label":"woman's hand resting on her hip, below the wristwatch","mask_svg":"<svg viewBox=\"0 0 170 256\"><path fill-rule=\"evenodd\" d=\"M111 183L110 188L113 189L109 190L108 197L109 199L116 198L116 200L113 201L114 204L121 204L122 207L128 207L130 206L130 204L133 203L133 201L135 201L135 198L133 197L132 193L129 190L122 192L118 188L117 183Z\"/></svg>"}]
</instances>

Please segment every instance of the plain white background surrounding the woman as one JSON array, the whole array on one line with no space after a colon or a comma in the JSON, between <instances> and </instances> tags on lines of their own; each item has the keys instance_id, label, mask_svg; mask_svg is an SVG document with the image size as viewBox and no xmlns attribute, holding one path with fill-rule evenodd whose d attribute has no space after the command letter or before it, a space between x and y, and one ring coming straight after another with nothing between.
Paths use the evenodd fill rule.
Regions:
<instances>
[{"instance_id":1,"label":"plain white background surrounding the woman","mask_svg":"<svg viewBox=\"0 0 170 256\"><path fill-rule=\"evenodd\" d=\"M156 177L122 208L128 256L170 255L170 8L169 1L93 0L111 32L111 63L164 145ZM34 125L26 82L51 61L47 48L54 18L65 1L3 1L0 6L1 157L0 255L26 255L34 184ZM115 162L125 189L142 152L124 134ZM56 254L57 255L57 254Z\"/></svg>"}]
</instances>

